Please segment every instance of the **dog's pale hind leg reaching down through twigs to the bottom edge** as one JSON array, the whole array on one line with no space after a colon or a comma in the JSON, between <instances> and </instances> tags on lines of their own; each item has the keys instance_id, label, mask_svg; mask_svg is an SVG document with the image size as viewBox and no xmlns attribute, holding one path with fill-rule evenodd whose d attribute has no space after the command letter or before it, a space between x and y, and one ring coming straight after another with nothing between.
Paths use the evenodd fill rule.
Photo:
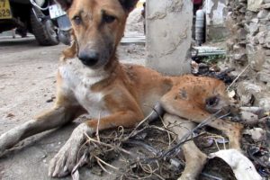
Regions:
<instances>
[{"instance_id":1,"label":"dog's pale hind leg reaching down through twigs to the bottom edge","mask_svg":"<svg viewBox=\"0 0 270 180\"><path fill-rule=\"evenodd\" d=\"M193 121L186 121L178 116L171 115L166 113L164 116L164 121L166 124L179 124L174 125L173 127L168 127L177 134L178 139L181 139L186 135L190 130L193 130L195 124ZM207 157L202 151L197 148L193 140L185 142L183 147L185 166L184 172L178 180L193 180L197 179L197 176L200 175L204 164L206 163Z\"/></svg>"}]
</instances>

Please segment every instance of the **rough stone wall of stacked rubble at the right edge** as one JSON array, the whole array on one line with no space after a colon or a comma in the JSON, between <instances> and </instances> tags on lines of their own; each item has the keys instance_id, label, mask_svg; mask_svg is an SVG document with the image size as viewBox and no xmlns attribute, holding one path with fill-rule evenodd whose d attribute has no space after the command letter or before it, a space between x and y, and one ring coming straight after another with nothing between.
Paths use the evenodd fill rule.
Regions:
<instances>
[{"instance_id":1,"label":"rough stone wall of stacked rubble at the right edge","mask_svg":"<svg viewBox=\"0 0 270 180\"><path fill-rule=\"evenodd\" d=\"M270 0L229 0L228 10L229 63L247 69L239 98L270 111Z\"/></svg>"}]
</instances>

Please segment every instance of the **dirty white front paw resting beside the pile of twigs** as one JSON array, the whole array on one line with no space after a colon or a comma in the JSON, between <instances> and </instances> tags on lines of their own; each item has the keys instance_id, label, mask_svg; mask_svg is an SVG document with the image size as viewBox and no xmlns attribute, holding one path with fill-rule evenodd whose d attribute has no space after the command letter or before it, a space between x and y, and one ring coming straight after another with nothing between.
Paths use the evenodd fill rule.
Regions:
<instances>
[{"instance_id":1,"label":"dirty white front paw resting beside the pile of twigs","mask_svg":"<svg viewBox=\"0 0 270 180\"><path fill-rule=\"evenodd\" d=\"M63 177L68 175L74 166L76 166L76 157L78 147L69 140L58 154L49 162L49 176Z\"/></svg>"}]
</instances>

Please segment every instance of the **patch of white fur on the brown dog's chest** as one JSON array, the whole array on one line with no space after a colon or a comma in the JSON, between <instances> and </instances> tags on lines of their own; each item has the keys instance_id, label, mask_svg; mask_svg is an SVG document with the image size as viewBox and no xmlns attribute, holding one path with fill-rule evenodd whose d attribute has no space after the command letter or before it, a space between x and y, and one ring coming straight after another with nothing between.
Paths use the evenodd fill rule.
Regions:
<instances>
[{"instance_id":1,"label":"patch of white fur on the brown dog's chest","mask_svg":"<svg viewBox=\"0 0 270 180\"><path fill-rule=\"evenodd\" d=\"M91 86L108 77L103 69L92 70L85 67L79 59L67 59L64 65L59 67L60 76L63 79L62 91L68 96L74 96L77 103L94 118L108 115L103 102L102 92L91 91Z\"/></svg>"}]
</instances>

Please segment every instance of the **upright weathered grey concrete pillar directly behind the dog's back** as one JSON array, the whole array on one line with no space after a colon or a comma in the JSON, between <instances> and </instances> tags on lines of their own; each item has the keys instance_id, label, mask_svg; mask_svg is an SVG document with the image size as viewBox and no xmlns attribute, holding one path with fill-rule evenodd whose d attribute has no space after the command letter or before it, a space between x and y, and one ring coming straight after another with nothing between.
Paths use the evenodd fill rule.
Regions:
<instances>
[{"instance_id":1,"label":"upright weathered grey concrete pillar directly behind the dog's back","mask_svg":"<svg viewBox=\"0 0 270 180\"><path fill-rule=\"evenodd\" d=\"M147 66L166 75L190 73L192 0L147 0Z\"/></svg>"}]
</instances>

